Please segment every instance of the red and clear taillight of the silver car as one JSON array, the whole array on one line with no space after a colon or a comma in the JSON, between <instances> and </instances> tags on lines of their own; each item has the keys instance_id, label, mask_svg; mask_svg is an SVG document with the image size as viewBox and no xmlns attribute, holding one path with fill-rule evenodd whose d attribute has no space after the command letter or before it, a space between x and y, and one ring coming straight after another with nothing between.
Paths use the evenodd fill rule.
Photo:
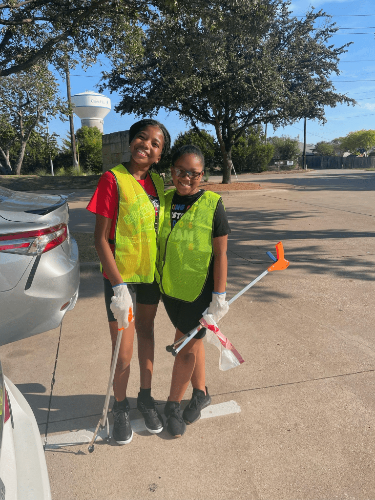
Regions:
<instances>
[{"instance_id":1,"label":"red and clear taillight of the silver car","mask_svg":"<svg viewBox=\"0 0 375 500\"><path fill-rule=\"evenodd\" d=\"M65 241L66 224L35 231L15 232L0 235L0 251L21 253L23 255L39 255L51 250Z\"/></svg>"}]
</instances>

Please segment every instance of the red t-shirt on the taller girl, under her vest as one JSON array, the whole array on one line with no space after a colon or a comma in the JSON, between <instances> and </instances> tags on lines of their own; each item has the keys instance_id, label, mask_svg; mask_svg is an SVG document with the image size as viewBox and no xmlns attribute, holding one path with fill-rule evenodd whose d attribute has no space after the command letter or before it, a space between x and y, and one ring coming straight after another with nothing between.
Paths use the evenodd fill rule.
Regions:
<instances>
[{"instance_id":1,"label":"red t-shirt on the taller girl, under her vest","mask_svg":"<svg viewBox=\"0 0 375 500\"><path fill-rule=\"evenodd\" d=\"M145 179L140 179L138 182L148 194L151 203L155 207L155 216L157 217L160 203L149 173L147 173ZM112 241L116 229L117 205L117 183L114 175L108 170L100 176L95 192L86 208L92 213L97 213L98 215L103 215L104 217L112 219L109 230L109 239ZM109 246L114 254L114 245L109 243ZM104 271L103 276L105 278L107 277Z\"/></svg>"}]
</instances>

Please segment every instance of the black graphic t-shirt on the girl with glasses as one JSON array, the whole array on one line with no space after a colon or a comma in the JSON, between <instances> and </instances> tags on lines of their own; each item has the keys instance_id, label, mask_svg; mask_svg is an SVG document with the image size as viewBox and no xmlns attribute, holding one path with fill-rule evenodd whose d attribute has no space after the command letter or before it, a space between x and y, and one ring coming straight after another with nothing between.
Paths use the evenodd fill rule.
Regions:
<instances>
[{"instance_id":1,"label":"black graphic t-shirt on the girl with glasses","mask_svg":"<svg viewBox=\"0 0 375 500\"><path fill-rule=\"evenodd\" d=\"M190 194L187 196L180 196L177 192L174 193L172 199L172 205L170 209L170 222L172 227L178 222L181 216L189 209L194 201L196 201L199 196L203 194L204 190L200 189L195 194ZM220 199L215 218L213 220L213 234L212 237L216 238L217 236L224 236L225 234L230 233L230 227L228 224L228 219L226 217L224 205L222 204L222 200Z\"/></svg>"}]
</instances>

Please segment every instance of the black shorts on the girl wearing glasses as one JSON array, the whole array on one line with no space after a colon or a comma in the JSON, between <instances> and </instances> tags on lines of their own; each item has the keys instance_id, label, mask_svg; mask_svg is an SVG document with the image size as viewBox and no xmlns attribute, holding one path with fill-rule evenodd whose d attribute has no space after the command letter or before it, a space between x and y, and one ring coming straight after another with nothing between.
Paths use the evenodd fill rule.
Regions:
<instances>
[{"instance_id":1,"label":"black shorts on the girl wearing glasses","mask_svg":"<svg viewBox=\"0 0 375 500\"><path fill-rule=\"evenodd\" d=\"M213 283L206 282L199 297L193 302L182 302L176 298L171 298L163 293L162 301L173 326L178 328L183 334L188 333L199 325L203 312L212 300ZM194 338L203 338L205 328L198 331Z\"/></svg>"}]
</instances>

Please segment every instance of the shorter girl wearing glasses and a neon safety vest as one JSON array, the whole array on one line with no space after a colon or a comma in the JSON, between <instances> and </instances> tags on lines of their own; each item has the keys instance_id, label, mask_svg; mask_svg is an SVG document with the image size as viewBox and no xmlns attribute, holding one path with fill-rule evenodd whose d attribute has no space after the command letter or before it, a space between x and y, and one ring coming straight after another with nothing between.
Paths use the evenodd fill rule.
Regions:
<instances>
[{"instance_id":1,"label":"shorter girl wearing glasses and a neon safety vest","mask_svg":"<svg viewBox=\"0 0 375 500\"><path fill-rule=\"evenodd\" d=\"M165 310L176 328L174 339L195 328L208 307L218 321L228 310L225 301L227 235L230 232L221 197L200 189L204 157L194 145L180 147L172 157L175 189L165 193L164 221L158 234L155 276ZM166 429L180 437L211 402L205 385L205 328L174 359L169 397L164 407ZM183 412L180 402L191 381L192 396Z\"/></svg>"}]
</instances>

